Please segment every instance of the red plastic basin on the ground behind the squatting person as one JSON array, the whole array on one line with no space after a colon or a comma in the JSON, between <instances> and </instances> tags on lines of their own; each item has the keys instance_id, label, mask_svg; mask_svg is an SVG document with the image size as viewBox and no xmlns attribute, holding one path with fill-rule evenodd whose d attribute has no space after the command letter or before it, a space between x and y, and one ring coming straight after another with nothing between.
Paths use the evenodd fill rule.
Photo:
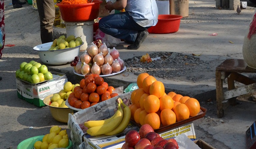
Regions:
<instances>
[{"instance_id":1,"label":"red plastic basin on the ground behind the squatting person","mask_svg":"<svg viewBox=\"0 0 256 149\"><path fill-rule=\"evenodd\" d=\"M153 34L175 33L179 30L181 18L180 15L158 15L156 26L151 26L148 32Z\"/></svg>"}]
</instances>

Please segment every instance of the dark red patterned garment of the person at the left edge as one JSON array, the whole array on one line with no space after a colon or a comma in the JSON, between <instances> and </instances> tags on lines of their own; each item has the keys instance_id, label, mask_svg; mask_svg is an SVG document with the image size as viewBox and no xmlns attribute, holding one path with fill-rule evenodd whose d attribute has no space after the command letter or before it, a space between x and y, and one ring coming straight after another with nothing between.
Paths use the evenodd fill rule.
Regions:
<instances>
[{"instance_id":1,"label":"dark red patterned garment of the person at the left edge","mask_svg":"<svg viewBox=\"0 0 256 149\"><path fill-rule=\"evenodd\" d=\"M2 50L5 46L5 13L4 13L4 0L0 0L0 29L3 34L3 47L0 49L0 59L2 58Z\"/></svg>"}]
</instances>

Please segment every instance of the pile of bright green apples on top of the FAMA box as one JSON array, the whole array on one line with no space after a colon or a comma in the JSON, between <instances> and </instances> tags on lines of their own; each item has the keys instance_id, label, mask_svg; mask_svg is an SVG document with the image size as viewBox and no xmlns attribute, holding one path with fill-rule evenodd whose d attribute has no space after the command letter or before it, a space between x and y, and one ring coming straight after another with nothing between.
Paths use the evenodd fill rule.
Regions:
<instances>
[{"instance_id":1,"label":"pile of bright green apples on top of the FAMA box","mask_svg":"<svg viewBox=\"0 0 256 149\"><path fill-rule=\"evenodd\" d=\"M32 84L50 80L53 78L46 65L36 61L22 62L20 69L16 71L16 77Z\"/></svg>"}]
</instances>

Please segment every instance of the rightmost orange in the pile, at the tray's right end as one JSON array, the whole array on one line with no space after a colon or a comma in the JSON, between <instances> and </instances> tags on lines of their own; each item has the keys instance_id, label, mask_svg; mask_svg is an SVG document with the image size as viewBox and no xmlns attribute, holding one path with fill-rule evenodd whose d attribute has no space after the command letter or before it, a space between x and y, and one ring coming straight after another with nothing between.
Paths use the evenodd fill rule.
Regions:
<instances>
[{"instance_id":1,"label":"rightmost orange in the pile, at the tray's right end","mask_svg":"<svg viewBox=\"0 0 256 149\"><path fill-rule=\"evenodd\" d=\"M196 116L200 112L200 103L194 98L188 99L185 104L189 108L190 116Z\"/></svg>"}]
</instances>

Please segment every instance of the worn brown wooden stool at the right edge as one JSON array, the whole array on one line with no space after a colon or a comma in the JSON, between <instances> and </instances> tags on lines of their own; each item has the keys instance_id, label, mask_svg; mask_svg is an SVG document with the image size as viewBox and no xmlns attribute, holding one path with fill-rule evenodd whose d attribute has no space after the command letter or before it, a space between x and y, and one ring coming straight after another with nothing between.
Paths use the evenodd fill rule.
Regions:
<instances>
[{"instance_id":1,"label":"worn brown wooden stool at the right edge","mask_svg":"<svg viewBox=\"0 0 256 149\"><path fill-rule=\"evenodd\" d=\"M222 62L216 68L216 102L217 115L222 117L224 109L227 107L227 102L231 105L236 104L236 98L239 95L251 93L256 90L256 80L253 80L240 73L256 73L256 69L247 66L247 63L242 59L228 59ZM223 91L223 81L227 78L228 91ZM234 82L240 82L245 86L235 88ZM226 105L224 107L224 105Z\"/></svg>"}]
</instances>

